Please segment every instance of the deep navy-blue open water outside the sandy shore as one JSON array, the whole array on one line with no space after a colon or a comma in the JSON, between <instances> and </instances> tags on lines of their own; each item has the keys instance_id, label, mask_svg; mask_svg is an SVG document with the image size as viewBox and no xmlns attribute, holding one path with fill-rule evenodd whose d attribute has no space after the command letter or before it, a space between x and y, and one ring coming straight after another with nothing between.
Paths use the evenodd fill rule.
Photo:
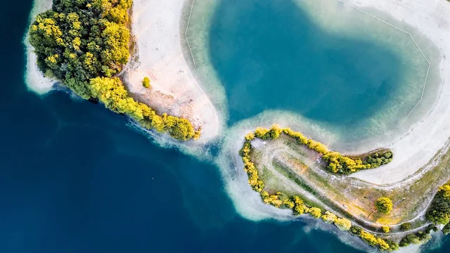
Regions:
<instances>
[{"instance_id":1,"label":"deep navy-blue open water outside the sandy shore","mask_svg":"<svg viewBox=\"0 0 450 253\"><path fill-rule=\"evenodd\" d=\"M213 165L153 145L101 105L27 91L31 7L0 10L0 252L357 252L302 221L242 219ZM436 252L449 250L447 239Z\"/></svg>"}]
</instances>

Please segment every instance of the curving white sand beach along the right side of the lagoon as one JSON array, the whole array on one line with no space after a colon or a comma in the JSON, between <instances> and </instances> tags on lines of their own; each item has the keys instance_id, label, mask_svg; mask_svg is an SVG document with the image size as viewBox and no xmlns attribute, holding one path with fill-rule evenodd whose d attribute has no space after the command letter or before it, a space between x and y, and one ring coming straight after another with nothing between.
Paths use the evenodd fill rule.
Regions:
<instances>
[{"instance_id":1,"label":"curving white sand beach along the right side of the lagoon","mask_svg":"<svg viewBox=\"0 0 450 253\"><path fill-rule=\"evenodd\" d=\"M439 70L442 78L442 93L435 108L406 136L390 148L394 160L384 167L361 171L356 178L378 184L395 183L414 174L427 164L444 147L450 136L450 3L445 0L345 0L365 8L376 8L390 13L393 18L416 27L433 41L442 53ZM431 66L437 67L437 66ZM432 169L432 167L428 167Z\"/></svg>"}]
</instances>

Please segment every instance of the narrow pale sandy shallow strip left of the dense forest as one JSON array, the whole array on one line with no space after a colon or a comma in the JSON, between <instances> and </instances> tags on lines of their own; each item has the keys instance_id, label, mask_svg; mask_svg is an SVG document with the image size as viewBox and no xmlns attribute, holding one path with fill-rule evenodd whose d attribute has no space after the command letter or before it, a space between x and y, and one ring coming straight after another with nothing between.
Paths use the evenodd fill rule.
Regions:
<instances>
[{"instance_id":1,"label":"narrow pale sandy shallow strip left of the dense forest","mask_svg":"<svg viewBox=\"0 0 450 253\"><path fill-rule=\"evenodd\" d=\"M52 0L39 0L34 1L33 9L30 13L30 23L34 22L34 17L44 11L51 9L53 4ZM23 38L23 44L25 45L27 56L27 70L25 72L25 83L30 91L34 91L40 95L51 91L56 80L44 77L44 74L37 67L37 56L34 54L34 48L28 42L28 31Z\"/></svg>"}]
</instances>

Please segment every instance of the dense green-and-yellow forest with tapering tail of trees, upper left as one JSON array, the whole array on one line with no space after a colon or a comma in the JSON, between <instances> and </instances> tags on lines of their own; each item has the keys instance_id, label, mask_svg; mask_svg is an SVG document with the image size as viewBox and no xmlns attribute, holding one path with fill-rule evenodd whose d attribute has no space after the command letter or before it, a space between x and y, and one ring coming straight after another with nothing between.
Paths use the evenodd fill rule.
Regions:
<instances>
[{"instance_id":1,"label":"dense green-and-yellow forest with tapering tail of trees, upper left","mask_svg":"<svg viewBox=\"0 0 450 253\"><path fill-rule=\"evenodd\" d=\"M131 0L54 0L30 27L37 65L84 99L97 98L148 129L186 141L198 138L187 119L157 115L129 97L115 77L129 58Z\"/></svg>"}]
</instances>

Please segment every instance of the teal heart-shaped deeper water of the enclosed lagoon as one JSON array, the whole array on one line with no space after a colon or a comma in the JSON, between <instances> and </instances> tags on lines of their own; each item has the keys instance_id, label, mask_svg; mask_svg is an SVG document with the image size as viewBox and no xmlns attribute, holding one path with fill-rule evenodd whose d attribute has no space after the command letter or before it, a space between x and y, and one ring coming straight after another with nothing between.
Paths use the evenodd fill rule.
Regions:
<instances>
[{"instance_id":1,"label":"teal heart-shaped deeper water of the enclosed lagoon","mask_svg":"<svg viewBox=\"0 0 450 253\"><path fill-rule=\"evenodd\" d=\"M208 39L229 124L269 109L359 124L399 90L407 65L377 41L323 30L291 0L219 1Z\"/></svg>"}]
</instances>

